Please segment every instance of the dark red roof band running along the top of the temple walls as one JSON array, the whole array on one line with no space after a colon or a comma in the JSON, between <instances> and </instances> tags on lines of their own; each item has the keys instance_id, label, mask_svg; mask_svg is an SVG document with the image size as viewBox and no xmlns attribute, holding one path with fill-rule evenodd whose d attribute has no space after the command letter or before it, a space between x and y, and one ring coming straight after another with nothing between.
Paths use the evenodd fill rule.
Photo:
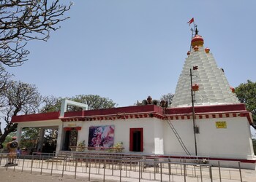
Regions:
<instances>
[{"instance_id":1,"label":"dark red roof band running along the top of the temple walls","mask_svg":"<svg viewBox=\"0 0 256 182\"><path fill-rule=\"evenodd\" d=\"M195 106L197 119L247 117L252 124L252 114L246 111L244 103L216 106ZM87 111L69 111L60 116L60 111L40 114L26 114L12 116L12 123L23 122L89 122L89 121L116 121L118 119L157 118L162 120L192 119L192 107L162 108L155 105L128 106L121 108L106 108Z\"/></svg>"}]
</instances>

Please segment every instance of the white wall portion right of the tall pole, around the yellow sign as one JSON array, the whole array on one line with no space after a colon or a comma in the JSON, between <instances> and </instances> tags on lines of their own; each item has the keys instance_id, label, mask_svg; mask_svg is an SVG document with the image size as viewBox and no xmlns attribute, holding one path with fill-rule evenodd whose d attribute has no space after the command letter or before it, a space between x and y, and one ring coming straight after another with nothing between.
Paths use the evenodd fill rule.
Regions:
<instances>
[{"instance_id":1,"label":"white wall portion right of the tall pole, around the yellow sign","mask_svg":"<svg viewBox=\"0 0 256 182\"><path fill-rule=\"evenodd\" d=\"M227 128L217 129L216 122L225 121ZM200 119L197 122L198 151L202 156L252 159L251 132L246 117Z\"/></svg>"}]
</instances>

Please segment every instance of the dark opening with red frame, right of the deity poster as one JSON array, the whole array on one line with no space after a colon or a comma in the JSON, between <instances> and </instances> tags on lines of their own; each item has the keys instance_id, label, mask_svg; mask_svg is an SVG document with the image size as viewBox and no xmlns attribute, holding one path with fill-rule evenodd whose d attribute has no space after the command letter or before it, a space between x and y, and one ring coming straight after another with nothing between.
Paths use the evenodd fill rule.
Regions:
<instances>
[{"instance_id":1,"label":"dark opening with red frame, right of the deity poster","mask_svg":"<svg viewBox=\"0 0 256 182\"><path fill-rule=\"evenodd\" d=\"M143 128L129 129L129 151L143 151Z\"/></svg>"}]
</instances>

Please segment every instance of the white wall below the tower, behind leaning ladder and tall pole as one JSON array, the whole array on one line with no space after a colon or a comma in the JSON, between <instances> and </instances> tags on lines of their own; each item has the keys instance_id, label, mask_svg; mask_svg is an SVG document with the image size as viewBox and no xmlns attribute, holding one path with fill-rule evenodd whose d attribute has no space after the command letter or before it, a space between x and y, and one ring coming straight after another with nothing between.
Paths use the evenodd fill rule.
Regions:
<instances>
[{"instance_id":1,"label":"white wall below the tower, behind leaning ladder and tall pole","mask_svg":"<svg viewBox=\"0 0 256 182\"><path fill-rule=\"evenodd\" d=\"M217 129L216 122L225 121L227 128ZM171 121L190 154L195 155L192 119ZM196 119L199 127L197 155L233 159L252 159L251 132L246 117ZM165 154L185 155L171 128L165 123Z\"/></svg>"}]
</instances>

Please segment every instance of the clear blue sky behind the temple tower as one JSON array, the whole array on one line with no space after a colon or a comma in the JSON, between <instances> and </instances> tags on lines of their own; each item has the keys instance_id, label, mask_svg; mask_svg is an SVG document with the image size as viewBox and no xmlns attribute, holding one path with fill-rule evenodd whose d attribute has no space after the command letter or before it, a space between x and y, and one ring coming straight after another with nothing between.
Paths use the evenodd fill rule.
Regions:
<instances>
[{"instance_id":1,"label":"clear blue sky behind the temple tower","mask_svg":"<svg viewBox=\"0 0 256 182\"><path fill-rule=\"evenodd\" d=\"M66 3L67 1L63 1ZM29 60L12 79L42 95L95 94L118 106L174 93L195 17L205 47L230 85L256 82L256 1L75 0L71 18L45 41L30 41Z\"/></svg>"}]
</instances>

